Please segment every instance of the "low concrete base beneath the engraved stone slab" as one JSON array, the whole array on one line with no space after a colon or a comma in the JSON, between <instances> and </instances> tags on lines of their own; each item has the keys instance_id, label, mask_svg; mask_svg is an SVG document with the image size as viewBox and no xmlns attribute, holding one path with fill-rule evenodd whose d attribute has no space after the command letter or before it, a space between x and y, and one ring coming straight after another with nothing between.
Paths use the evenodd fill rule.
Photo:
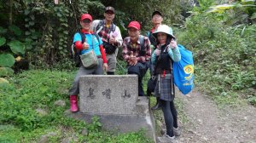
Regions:
<instances>
[{"instance_id":1,"label":"low concrete base beneath the engraved stone slab","mask_svg":"<svg viewBox=\"0 0 256 143\"><path fill-rule=\"evenodd\" d=\"M99 114L84 112L66 112L69 117L91 122L91 117L100 117L102 128L113 132L135 132L144 129L148 138L155 142L155 126L154 117L149 110L149 102L147 97L138 97L136 111L138 114ZM142 114L143 113L143 114Z\"/></svg>"}]
</instances>

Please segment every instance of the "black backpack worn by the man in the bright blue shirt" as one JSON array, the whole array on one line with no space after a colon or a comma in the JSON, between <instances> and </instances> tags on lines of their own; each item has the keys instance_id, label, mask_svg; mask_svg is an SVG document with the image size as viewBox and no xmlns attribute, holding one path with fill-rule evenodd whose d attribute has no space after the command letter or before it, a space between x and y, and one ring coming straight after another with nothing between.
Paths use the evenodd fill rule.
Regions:
<instances>
[{"instance_id":1,"label":"black backpack worn by the man in the bright blue shirt","mask_svg":"<svg viewBox=\"0 0 256 143\"><path fill-rule=\"evenodd\" d=\"M86 38L85 35L84 35L84 33L82 33L81 31L79 31L79 34L80 34L80 36L81 36L81 38L82 38L82 43L84 43L85 38ZM100 37L98 36L98 34L93 33L92 35L96 36L98 42L100 43L100 40L99 40ZM76 49L74 43L73 43L72 46L71 46L71 51L70 51L70 53L73 55L73 60L74 60L74 62L75 62L75 66L76 66L76 67L81 66L81 59L80 59L80 56L79 56L79 55L81 54L81 50Z\"/></svg>"}]
</instances>

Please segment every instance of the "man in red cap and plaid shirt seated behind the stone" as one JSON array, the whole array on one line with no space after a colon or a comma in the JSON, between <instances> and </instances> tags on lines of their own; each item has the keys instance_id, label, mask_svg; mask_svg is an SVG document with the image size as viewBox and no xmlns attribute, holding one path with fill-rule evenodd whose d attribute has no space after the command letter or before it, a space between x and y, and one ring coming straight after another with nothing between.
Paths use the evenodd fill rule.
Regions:
<instances>
[{"instance_id":1,"label":"man in red cap and plaid shirt seated behind the stone","mask_svg":"<svg viewBox=\"0 0 256 143\"><path fill-rule=\"evenodd\" d=\"M138 95L143 96L143 77L148 70L151 57L150 41L148 37L140 35L141 26L137 21L131 21L128 26L129 37L123 42L122 55L127 62L128 74L138 76Z\"/></svg>"}]
</instances>

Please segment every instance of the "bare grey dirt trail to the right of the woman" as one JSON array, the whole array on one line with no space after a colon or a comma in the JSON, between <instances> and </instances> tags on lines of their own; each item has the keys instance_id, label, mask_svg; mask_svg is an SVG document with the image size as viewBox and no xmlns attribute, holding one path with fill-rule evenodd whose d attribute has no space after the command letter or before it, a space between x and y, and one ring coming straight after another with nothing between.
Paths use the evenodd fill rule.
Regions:
<instances>
[{"instance_id":1,"label":"bare grey dirt trail to the right of the woman","mask_svg":"<svg viewBox=\"0 0 256 143\"><path fill-rule=\"evenodd\" d=\"M196 90L183 100L189 123L180 123L182 143L256 143L256 108L219 109L211 99Z\"/></svg>"}]
</instances>

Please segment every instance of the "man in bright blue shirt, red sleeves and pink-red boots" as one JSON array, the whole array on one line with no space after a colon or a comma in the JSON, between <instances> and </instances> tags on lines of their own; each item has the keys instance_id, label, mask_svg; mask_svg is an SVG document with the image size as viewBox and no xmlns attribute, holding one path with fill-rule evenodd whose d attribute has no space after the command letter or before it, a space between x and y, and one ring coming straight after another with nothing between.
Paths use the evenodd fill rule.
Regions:
<instances>
[{"instance_id":1,"label":"man in bright blue shirt, red sleeves and pink-red boots","mask_svg":"<svg viewBox=\"0 0 256 143\"><path fill-rule=\"evenodd\" d=\"M98 58L98 66L85 68L79 59L79 72L74 78L70 94L70 111L78 112L77 95L79 94L79 77L88 74L102 75L103 69L108 69L106 54L102 46L102 40L93 31L90 31L92 17L90 14L82 14L80 19L81 31L75 33L73 43L79 54L85 54L93 50Z\"/></svg>"}]
</instances>

